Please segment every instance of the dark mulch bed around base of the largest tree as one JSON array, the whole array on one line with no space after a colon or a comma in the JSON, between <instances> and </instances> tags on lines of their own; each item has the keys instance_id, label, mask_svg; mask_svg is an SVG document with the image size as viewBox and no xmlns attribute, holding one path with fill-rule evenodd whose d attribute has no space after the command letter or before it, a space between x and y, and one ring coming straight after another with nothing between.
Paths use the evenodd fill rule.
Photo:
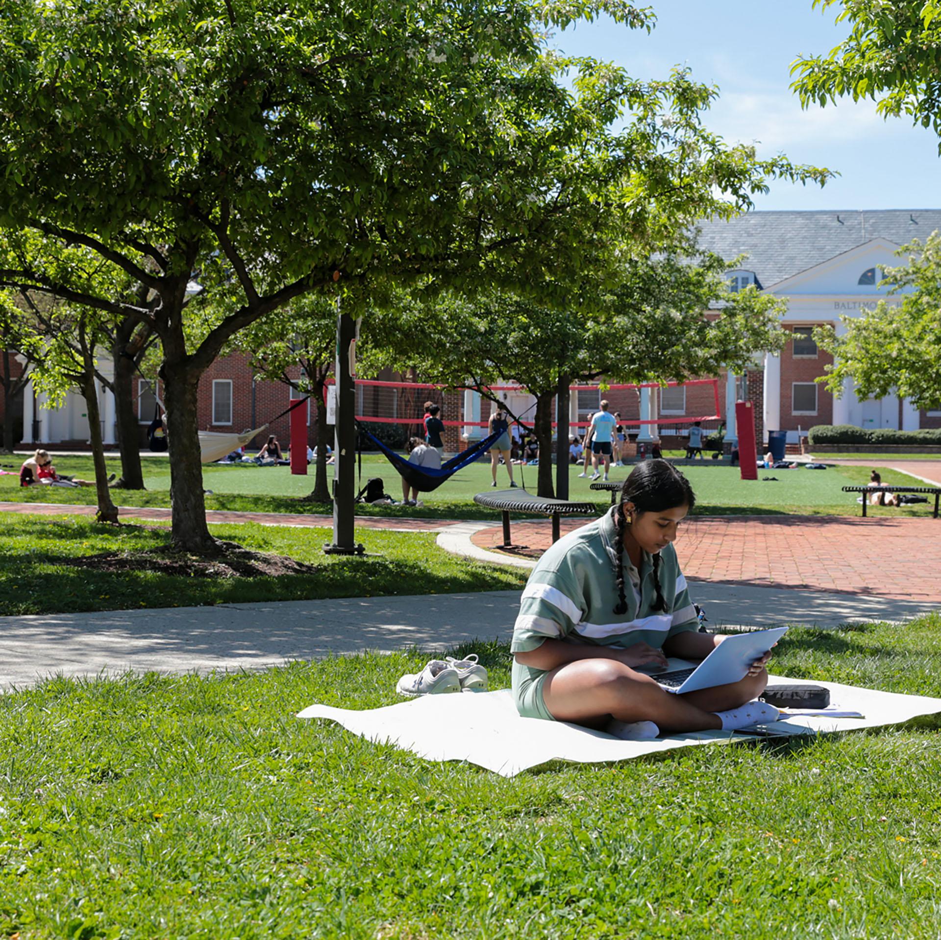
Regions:
<instances>
[{"instance_id":1,"label":"dark mulch bed around base of the largest tree","mask_svg":"<svg viewBox=\"0 0 941 940\"><path fill-rule=\"evenodd\" d=\"M186 578L278 578L281 575L313 574L317 567L285 555L249 551L234 542L220 542L215 557L190 555L170 547L150 551L110 551L63 560L60 564L95 571L156 571Z\"/></svg>"}]
</instances>

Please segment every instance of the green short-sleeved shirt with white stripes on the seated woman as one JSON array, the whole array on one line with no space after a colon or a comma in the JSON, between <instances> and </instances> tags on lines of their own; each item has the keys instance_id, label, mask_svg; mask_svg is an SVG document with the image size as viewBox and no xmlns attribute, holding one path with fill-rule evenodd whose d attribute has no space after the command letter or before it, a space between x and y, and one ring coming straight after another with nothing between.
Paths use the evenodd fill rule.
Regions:
<instances>
[{"instance_id":1,"label":"green short-sleeved shirt with white stripes on the seated woman","mask_svg":"<svg viewBox=\"0 0 941 940\"><path fill-rule=\"evenodd\" d=\"M512 652L528 652L547 639L620 647L643 642L659 648L668 637L698 629L672 545L661 551L658 572L666 612L654 610L653 556L644 552L638 571L624 552L628 610L614 613L617 552L622 550L616 545L615 508L560 538L539 559L523 589Z\"/></svg>"}]
</instances>

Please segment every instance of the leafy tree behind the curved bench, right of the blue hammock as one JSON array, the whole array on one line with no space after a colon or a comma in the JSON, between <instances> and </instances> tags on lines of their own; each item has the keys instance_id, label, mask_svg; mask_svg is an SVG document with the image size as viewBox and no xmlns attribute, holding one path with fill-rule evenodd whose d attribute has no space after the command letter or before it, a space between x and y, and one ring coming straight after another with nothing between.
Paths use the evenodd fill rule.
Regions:
<instances>
[{"instance_id":1,"label":"leafy tree behind the curved bench, right of the blue hammock","mask_svg":"<svg viewBox=\"0 0 941 940\"><path fill-rule=\"evenodd\" d=\"M777 349L785 304L754 288L729 293L726 263L674 257L628 264L600 296L582 285L581 311L502 293L450 296L380 313L370 324L366 361L414 369L423 380L478 390L512 381L535 398L538 493L551 496L552 405L573 382L667 382L742 370L759 350ZM714 318L704 311L722 300ZM525 419L524 419L525 420ZM565 452L567 441L559 454Z\"/></svg>"}]
</instances>

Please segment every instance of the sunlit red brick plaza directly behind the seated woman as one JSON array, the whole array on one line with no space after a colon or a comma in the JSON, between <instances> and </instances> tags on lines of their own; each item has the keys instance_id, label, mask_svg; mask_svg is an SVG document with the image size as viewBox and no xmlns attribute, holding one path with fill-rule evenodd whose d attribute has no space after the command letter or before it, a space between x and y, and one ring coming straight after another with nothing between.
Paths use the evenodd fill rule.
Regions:
<instances>
[{"instance_id":1,"label":"sunlit red brick plaza directly behind the seated woman","mask_svg":"<svg viewBox=\"0 0 941 940\"><path fill-rule=\"evenodd\" d=\"M584 520L564 519L562 532ZM550 523L515 522L519 554L538 557ZM492 549L502 530L472 536ZM845 591L941 604L941 519L846 516L697 516L680 530L687 577L764 587Z\"/></svg>"}]
</instances>

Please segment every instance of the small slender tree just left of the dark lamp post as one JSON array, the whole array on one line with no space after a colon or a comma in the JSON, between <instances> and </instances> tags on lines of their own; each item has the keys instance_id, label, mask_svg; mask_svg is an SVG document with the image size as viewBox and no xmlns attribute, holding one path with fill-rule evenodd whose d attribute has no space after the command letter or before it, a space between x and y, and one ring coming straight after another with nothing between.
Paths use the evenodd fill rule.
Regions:
<instances>
[{"instance_id":1,"label":"small slender tree just left of the dark lamp post","mask_svg":"<svg viewBox=\"0 0 941 940\"><path fill-rule=\"evenodd\" d=\"M319 295L297 297L237 335L232 352L247 356L254 374L310 395L317 427L317 463L311 502L330 502L327 486L327 379L333 372L337 306ZM292 376L295 369L300 377Z\"/></svg>"}]
</instances>

